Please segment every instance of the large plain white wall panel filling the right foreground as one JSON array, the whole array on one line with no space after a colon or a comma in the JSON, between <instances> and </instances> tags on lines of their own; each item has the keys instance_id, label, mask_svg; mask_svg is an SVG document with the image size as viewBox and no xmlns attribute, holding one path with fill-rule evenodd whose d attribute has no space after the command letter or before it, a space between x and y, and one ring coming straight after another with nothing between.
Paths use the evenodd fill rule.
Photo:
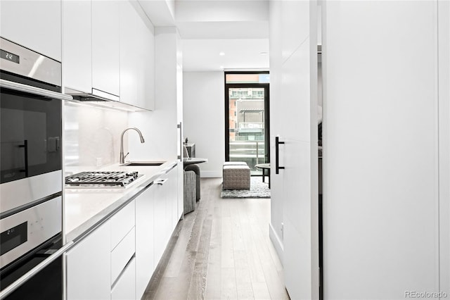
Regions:
<instances>
[{"instance_id":1,"label":"large plain white wall panel filling the right foreground","mask_svg":"<svg viewBox=\"0 0 450 300\"><path fill-rule=\"evenodd\" d=\"M436 2L324 5L324 299L439 292Z\"/></svg>"}]
</instances>

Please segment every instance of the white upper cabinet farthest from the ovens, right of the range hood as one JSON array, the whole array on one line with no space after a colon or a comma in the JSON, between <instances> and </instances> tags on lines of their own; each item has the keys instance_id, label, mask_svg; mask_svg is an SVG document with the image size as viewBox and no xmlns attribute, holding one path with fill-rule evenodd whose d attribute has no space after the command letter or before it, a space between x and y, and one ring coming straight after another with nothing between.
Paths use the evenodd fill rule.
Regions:
<instances>
[{"instance_id":1,"label":"white upper cabinet farthest from the ovens, right of the range hood","mask_svg":"<svg viewBox=\"0 0 450 300\"><path fill-rule=\"evenodd\" d=\"M153 109L153 26L136 1L120 2L120 101Z\"/></svg>"}]
</instances>

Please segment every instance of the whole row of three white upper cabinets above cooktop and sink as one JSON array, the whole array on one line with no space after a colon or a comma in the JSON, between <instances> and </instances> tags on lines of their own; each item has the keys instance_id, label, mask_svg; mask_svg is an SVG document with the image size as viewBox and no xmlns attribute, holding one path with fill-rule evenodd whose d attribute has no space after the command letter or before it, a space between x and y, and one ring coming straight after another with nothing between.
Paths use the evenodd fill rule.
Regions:
<instances>
[{"instance_id":1,"label":"whole row of three white upper cabinets above cooktop and sink","mask_svg":"<svg viewBox=\"0 0 450 300\"><path fill-rule=\"evenodd\" d=\"M153 25L137 1L63 0L68 89L153 110L154 53Z\"/></svg>"}]
</instances>

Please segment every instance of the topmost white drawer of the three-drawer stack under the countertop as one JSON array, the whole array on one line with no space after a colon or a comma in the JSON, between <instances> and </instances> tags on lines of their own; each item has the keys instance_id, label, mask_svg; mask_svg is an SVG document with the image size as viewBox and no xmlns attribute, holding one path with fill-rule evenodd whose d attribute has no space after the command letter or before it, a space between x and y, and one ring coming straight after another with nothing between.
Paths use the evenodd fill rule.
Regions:
<instances>
[{"instance_id":1,"label":"topmost white drawer of the three-drawer stack under the countertop","mask_svg":"<svg viewBox=\"0 0 450 300\"><path fill-rule=\"evenodd\" d=\"M124 238L134 227L134 200L122 208L111 218L111 250Z\"/></svg>"}]
</instances>

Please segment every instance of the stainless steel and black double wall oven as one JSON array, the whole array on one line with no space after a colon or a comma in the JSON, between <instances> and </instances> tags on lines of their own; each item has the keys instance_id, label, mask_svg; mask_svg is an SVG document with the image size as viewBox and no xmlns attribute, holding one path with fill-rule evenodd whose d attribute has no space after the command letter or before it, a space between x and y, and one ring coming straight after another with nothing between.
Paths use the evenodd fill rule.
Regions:
<instances>
[{"instance_id":1,"label":"stainless steel and black double wall oven","mask_svg":"<svg viewBox=\"0 0 450 300\"><path fill-rule=\"evenodd\" d=\"M61 64L0 38L0 298L62 299Z\"/></svg>"}]
</instances>

